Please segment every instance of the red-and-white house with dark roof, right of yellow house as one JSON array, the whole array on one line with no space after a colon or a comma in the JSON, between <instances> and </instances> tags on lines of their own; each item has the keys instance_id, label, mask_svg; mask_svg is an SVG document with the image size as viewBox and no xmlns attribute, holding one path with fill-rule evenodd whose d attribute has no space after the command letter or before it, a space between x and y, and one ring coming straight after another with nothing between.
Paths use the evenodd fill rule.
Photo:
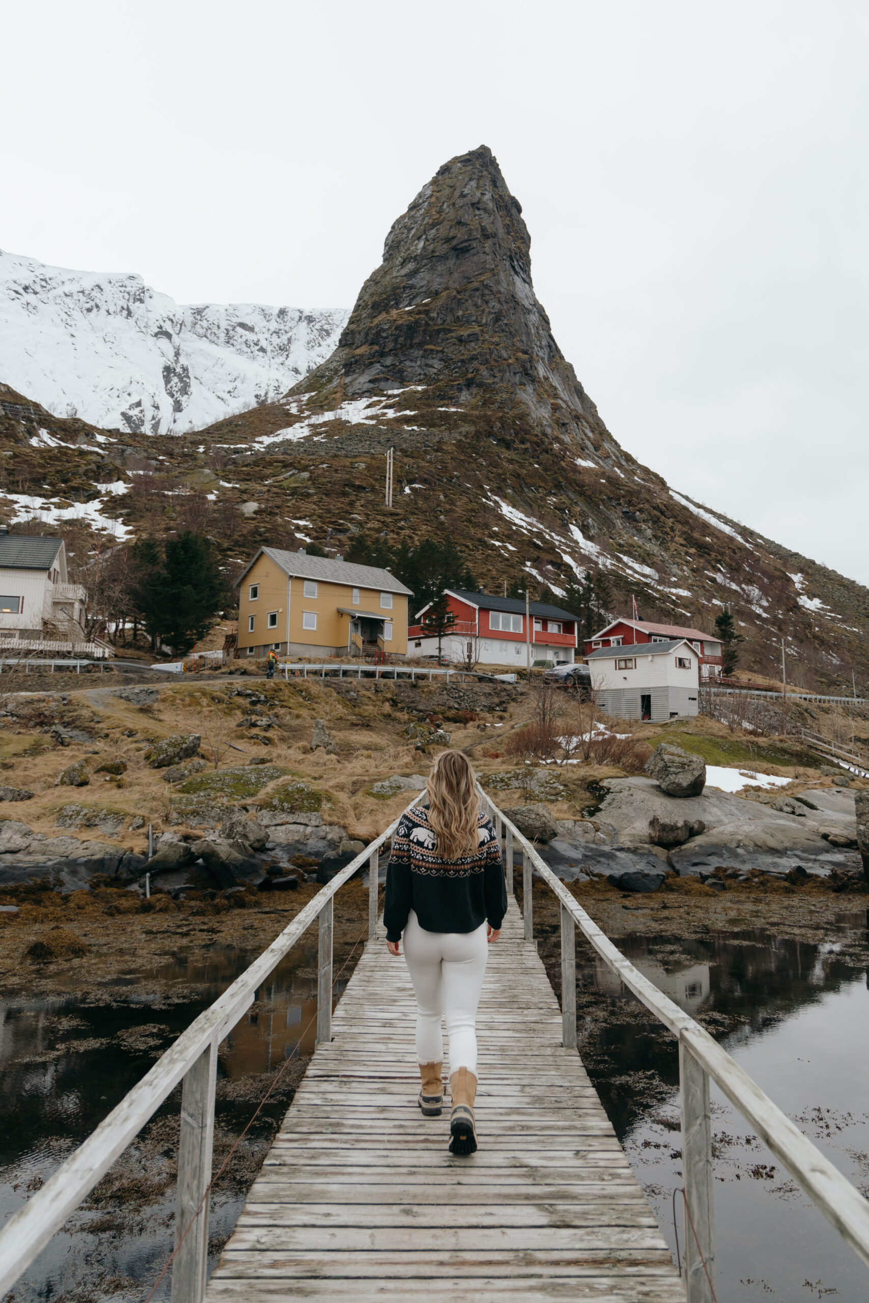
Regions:
<instances>
[{"instance_id":1,"label":"red-and-white house with dark roof, right of yellow house","mask_svg":"<svg viewBox=\"0 0 869 1303\"><path fill-rule=\"evenodd\" d=\"M465 593L447 589L455 625L442 638L442 653L449 661L464 661L468 642L476 657L486 665L525 668L526 661L572 663L577 648L577 616L548 602L530 602L530 629L525 624L522 598L495 597L491 593ZM436 655L438 640L417 623L408 625L408 655Z\"/></svg>"}]
</instances>

